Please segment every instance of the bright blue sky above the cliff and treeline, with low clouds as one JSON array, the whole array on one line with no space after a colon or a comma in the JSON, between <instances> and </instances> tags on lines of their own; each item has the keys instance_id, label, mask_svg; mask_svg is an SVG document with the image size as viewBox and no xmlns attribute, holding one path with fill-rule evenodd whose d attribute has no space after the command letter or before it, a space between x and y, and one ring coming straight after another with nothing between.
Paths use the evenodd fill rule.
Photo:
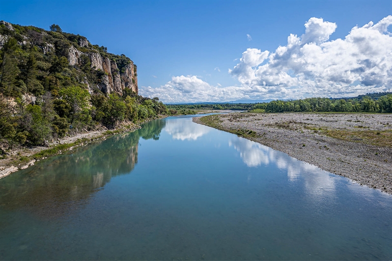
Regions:
<instances>
[{"instance_id":1,"label":"bright blue sky above the cliff and treeline, with low clouds","mask_svg":"<svg viewBox=\"0 0 392 261\"><path fill-rule=\"evenodd\" d=\"M386 90L391 83L390 75L379 74L377 81L374 80L371 85L367 85L368 78L353 76L360 61L356 62L357 67L339 69L349 70L349 76L344 77L350 80L342 80L342 75L339 78L330 74L319 78L322 77L320 72L304 72L298 69L298 65L291 68L288 64L292 61L279 65L279 70L292 78L274 80L272 74L279 72L270 71L272 60L269 56L264 57L262 52L268 50L270 55L279 46L287 46L290 34L300 38L305 33L304 24L312 17L323 18L322 21L312 20L309 24L320 24L325 30L328 24L336 25L330 27L335 29L326 33L328 38L324 42L344 40L354 26L361 27L370 21L376 24L392 15L392 1L14 0L0 3L2 20L45 29L56 23L65 32L86 36L92 44L106 46L109 52L126 54L137 65L140 93L158 95L164 102L339 97L368 90ZM388 32L391 32L389 20L387 26ZM384 49L392 50L390 37L386 38L388 32L381 32L380 37L384 37L384 43L387 43ZM303 54L302 47L303 44L295 51L296 54L292 52L291 55ZM253 51L244 54L247 49ZM386 53L389 53L389 59L390 51ZM244 64L244 55L260 64ZM333 55L339 54L333 51L328 54ZM355 53L352 55L355 56ZM385 53L380 50L378 55L381 57ZM260 60L261 57L265 59ZM374 63L381 63L380 59ZM309 66L309 55L304 57L305 60L306 66ZM364 61L367 60L365 57ZM346 60L340 62L343 64ZM312 63L313 67L317 67L325 61ZM268 71L257 71L265 64L270 65ZM305 66L304 62L301 65ZM328 66L324 71L330 71ZM389 63L385 66L380 68L390 70ZM372 73L374 75L375 72ZM310 74L303 78L303 75ZM339 79L334 82L335 78Z\"/></svg>"}]
</instances>

